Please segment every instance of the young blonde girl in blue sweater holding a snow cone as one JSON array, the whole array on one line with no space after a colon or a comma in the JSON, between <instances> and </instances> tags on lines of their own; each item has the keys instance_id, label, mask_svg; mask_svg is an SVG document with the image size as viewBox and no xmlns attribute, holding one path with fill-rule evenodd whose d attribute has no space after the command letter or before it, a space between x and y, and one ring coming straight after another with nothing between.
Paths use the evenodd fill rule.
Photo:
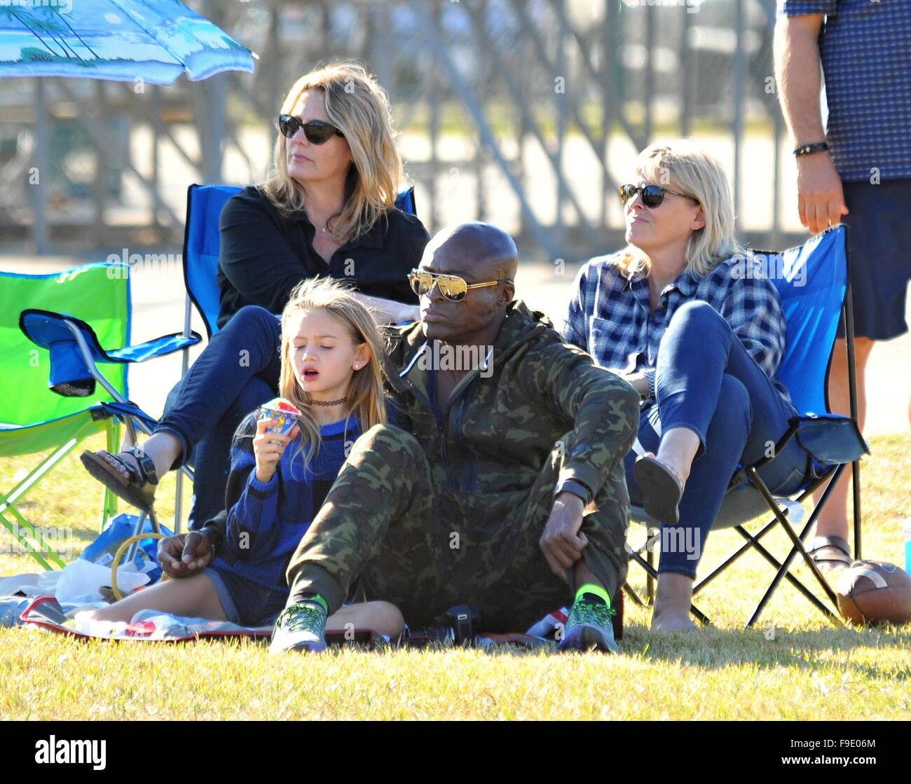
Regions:
<instances>
[{"instance_id":1,"label":"young blonde girl in blue sweater holding a snow cone","mask_svg":"<svg viewBox=\"0 0 911 784\"><path fill-rule=\"evenodd\" d=\"M288 597L285 570L322 505L352 443L386 422L382 339L370 313L342 283L305 280L281 314L280 394L300 411L290 433L251 413L231 447L224 541L203 571L167 580L93 611L129 621L139 610L271 624ZM327 629L402 630L384 602L343 607Z\"/></svg>"}]
</instances>

